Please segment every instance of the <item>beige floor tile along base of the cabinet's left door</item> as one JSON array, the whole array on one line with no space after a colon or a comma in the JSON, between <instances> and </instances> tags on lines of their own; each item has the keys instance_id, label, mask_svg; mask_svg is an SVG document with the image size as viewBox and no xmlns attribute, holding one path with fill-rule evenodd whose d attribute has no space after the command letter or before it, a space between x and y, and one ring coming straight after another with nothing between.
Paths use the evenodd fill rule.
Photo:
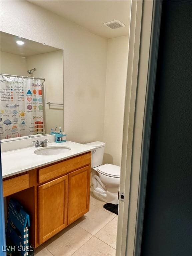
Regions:
<instances>
[{"instance_id":1,"label":"beige floor tile along base of the cabinet's left door","mask_svg":"<svg viewBox=\"0 0 192 256\"><path fill-rule=\"evenodd\" d=\"M55 256L69 256L92 237L77 225L70 225L43 244Z\"/></svg>"}]
</instances>

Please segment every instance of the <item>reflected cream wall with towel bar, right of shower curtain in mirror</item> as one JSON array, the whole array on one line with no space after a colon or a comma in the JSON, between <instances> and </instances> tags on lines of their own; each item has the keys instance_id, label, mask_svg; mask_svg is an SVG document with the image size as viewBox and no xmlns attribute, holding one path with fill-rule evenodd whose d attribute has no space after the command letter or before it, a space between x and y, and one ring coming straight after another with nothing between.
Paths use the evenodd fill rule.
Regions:
<instances>
[{"instance_id":1,"label":"reflected cream wall with towel bar, right of shower curtain in mirror","mask_svg":"<svg viewBox=\"0 0 192 256\"><path fill-rule=\"evenodd\" d=\"M27 59L27 69L36 68L33 76L45 78L45 98L46 102L63 103L63 51L55 51L44 54L29 56ZM50 133L51 128L61 126L63 131L63 106L45 105L46 126L45 133Z\"/></svg>"}]
</instances>

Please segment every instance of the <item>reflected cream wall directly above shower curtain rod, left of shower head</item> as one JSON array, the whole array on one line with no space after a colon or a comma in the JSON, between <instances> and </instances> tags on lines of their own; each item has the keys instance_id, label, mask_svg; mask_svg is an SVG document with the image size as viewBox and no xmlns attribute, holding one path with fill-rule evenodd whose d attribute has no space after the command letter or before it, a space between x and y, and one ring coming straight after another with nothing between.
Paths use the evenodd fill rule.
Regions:
<instances>
[{"instance_id":1,"label":"reflected cream wall directly above shower curtain rod, left of shower head","mask_svg":"<svg viewBox=\"0 0 192 256\"><path fill-rule=\"evenodd\" d=\"M20 55L1 52L0 72L9 75L27 76L27 61Z\"/></svg>"}]
</instances>

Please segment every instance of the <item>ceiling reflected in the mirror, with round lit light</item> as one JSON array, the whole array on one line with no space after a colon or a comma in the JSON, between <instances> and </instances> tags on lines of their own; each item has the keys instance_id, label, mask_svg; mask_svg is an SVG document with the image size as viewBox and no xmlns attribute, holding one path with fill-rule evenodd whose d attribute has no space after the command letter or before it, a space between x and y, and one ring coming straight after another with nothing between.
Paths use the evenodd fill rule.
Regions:
<instances>
[{"instance_id":1,"label":"ceiling reflected in the mirror, with round lit light","mask_svg":"<svg viewBox=\"0 0 192 256\"><path fill-rule=\"evenodd\" d=\"M9 52L9 53L21 55L24 57L60 50L55 47L37 43L31 40L21 38L15 35L7 34L4 32L0 32L0 38L1 38L0 42L1 42L2 52ZM24 44L18 45L16 43L17 40L23 41Z\"/></svg>"}]
</instances>

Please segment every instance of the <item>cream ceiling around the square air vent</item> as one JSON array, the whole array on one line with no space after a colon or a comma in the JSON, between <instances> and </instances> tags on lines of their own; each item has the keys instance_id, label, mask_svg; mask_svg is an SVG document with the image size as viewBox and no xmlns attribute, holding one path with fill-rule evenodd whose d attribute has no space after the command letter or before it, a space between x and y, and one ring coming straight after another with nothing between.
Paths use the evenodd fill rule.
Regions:
<instances>
[{"instance_id":1,"label":"cream ceiling around the square air vent","mask_svg":"<svg viewBox=\"0 0 192 256\"><path fill-rule=\"evenodd\" d=\"M105 38L125 36L129 33L130 0L32 0L29 2ZM113 20L120 20L126 27L112 30L103 25Z\"/></svg>"}]
</instances>

